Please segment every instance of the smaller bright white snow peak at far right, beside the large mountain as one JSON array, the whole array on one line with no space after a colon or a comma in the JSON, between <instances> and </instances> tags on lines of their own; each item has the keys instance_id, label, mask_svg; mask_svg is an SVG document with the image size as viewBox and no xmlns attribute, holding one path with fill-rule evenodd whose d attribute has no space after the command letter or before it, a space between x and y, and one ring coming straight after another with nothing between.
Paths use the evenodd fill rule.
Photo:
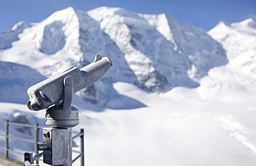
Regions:
<instances>
[{"instance_id":1,"label":"smaller bright white snow peak at far right, beside the large mountain","mask_svg":"<svg viewBox=\"0 0 256 166\"><path fill-rule=\"evenodd\" d=\"M233 24L220 22L209 35L226 50L232 70L256 78L256 21L246 19Z\"/></svg>"}]
</instances>

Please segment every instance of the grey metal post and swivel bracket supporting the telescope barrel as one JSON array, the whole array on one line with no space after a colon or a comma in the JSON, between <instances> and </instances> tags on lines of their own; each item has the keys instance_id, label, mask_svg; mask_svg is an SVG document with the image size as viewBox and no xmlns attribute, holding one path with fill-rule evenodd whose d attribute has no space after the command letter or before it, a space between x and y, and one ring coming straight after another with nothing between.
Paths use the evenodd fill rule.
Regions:
<instances>
[{"instance_id":1,"label":"grey metal post and swivel bracket supporting the telescope barrel","mask_svg":"<svg viewBox=\"0 0 256 166\"><path fill-rule=\"evenodd\" d=\"M43 143L37 145L44 150L44 163L48 165L72 166L72 128L79 124L78 110L71 106L73 99L73 78L63 80L64 96L61 104L46 110L46 124L43 129Z\"/></svg>"}]
</instances>

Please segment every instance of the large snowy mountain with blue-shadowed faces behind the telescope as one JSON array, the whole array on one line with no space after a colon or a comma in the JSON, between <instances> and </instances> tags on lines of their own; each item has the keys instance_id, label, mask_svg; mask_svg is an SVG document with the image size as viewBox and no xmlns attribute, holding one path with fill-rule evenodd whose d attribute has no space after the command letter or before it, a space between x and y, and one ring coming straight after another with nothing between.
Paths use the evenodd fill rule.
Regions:
<instances>
[{"instance_id":1,"label":"large snowy mountain with blue-shadowed faces behind the telescope","mask_svg":"<svg viewBox=\"0 0 256 166\"><path fill-rule=\"evenodd\" d=\"M0 46L1 61L29 66L45 77L89 64L96 53L109 57L114 65L103 83L81 93L98 104L109 102L104 89L112 89L113 82L156 92L192 88L210 68L228 62L221 44L202 30L165 14L122 8L66 8L39 23L22 21L0 34Z\"/></svg>"}]
</instances>

